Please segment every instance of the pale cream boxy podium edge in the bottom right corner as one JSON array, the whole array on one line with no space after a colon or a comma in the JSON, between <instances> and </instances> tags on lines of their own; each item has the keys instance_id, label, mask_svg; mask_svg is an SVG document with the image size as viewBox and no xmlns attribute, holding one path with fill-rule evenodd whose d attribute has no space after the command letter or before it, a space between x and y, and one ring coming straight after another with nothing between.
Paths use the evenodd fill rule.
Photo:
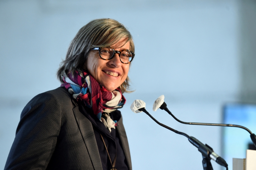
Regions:
<instances>
[{"instance_id":1,"label":"pale cream boxy podium edge in the bottom right corner","mask_svg":"<svg viewBox=\"0 0 256 170\"><path fill-rule=\"evenodd\" d=\"M256 151L246 150L246 158L233 158L233 170L256 170Z\"/></svg>"}]
</instances>

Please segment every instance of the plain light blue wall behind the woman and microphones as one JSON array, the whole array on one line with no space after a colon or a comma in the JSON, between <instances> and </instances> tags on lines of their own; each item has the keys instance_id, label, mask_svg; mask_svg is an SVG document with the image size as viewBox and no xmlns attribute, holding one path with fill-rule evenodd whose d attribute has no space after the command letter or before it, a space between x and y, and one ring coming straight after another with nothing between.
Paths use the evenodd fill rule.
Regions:
<instances>
[{"instance_id":1,"label":"plain light blue wall behind the woman and microphones","mask_svg":"<svg viewBox=\"0 0 256 170\"><path fill-rule=\"evenodd\" d=\"M239 100L241 91L240 6L227 0L0 1L0 169L21 110L36 94L60 86L55 75L69 43L96 18L123 23L135 42L129 76L136 91L124 95L121 109L133 169L203 169L200 152L185 137L129 107L144 100L158 121L221 154L219 127L183 125L152 106L164 94L183 121L221 122L223 103Z\"/></svg>"}]
</instances>

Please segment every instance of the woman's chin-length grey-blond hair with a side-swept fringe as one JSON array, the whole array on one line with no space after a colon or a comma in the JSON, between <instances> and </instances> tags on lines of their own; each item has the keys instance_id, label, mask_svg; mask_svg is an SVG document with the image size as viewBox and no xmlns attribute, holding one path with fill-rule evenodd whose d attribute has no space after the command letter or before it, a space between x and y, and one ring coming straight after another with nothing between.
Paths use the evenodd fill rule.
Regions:
<instances>
[{"instance_id":1,"label":"woman's chin-length grey-blond hair with a side-swept fringe","mask_svg":"<svg viewBox=\"0 0 256 170\"><path fill-rule=\"evenodd\" d=\"M92 48L108 47L122 38L126 38L126 42L130 42L130 50L134 52L131 33L118 21L109 18L95 19L83 26L71 41L66 59L60 63L60 68L57 71L60 82L64 83L63 77L67 77L68 74L74 76L75 70L79 73L83 72L84 63ZM120 85L122 92L131 92L128 91L129 83L130 80L127 76L124 83Z\"/></svg>"}]
</instances>

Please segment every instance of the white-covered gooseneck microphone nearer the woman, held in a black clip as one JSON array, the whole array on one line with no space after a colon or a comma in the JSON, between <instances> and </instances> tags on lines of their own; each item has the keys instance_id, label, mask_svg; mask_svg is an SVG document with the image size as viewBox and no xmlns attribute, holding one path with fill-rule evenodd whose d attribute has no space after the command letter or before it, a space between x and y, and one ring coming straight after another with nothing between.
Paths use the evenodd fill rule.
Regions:
<instances>
[{"instance_id":1,"label":"white-covered gooseneck microphone nearer the woman, held in a black clip","mask_svg":"<svg viewBox=\"0 0 256 170\"><path fill-rule=\"evenodd\" d=\"M139 112L144 112L144 113L146 113L151 119L153 119L157 124L159 124L160 126L166 128L166 129L169 129L169 130L171 130L171 131L173 131L173 132L175 132L175 133L177 133L177 134L180 134L180 135L183 135L183 136L187 137L187 138L188 138L188 141L189 141L191 144L193 144L194 146L196 146L196 147L198 148L198 151L202 153L203 158L204 158L204 159L203 159L203 166L205 166L205 165L204 165L204 161L205 161L205 160L208 160L208 161L209 161L208 164L210 164L210 165L208 165L208 166L212 166L210 160L213 159L213 160L216 161L219 165L226 167L226 170L228 170L228 164L227 164L227 162L226 162L223 158L221 158L218 154L216 154L215 152L213 152L213 149L212 149L209 145L207 145L207 144L204 145L202 142L200 142L199 140L197 140L195 137L189 136L189 135L187 135L186 133L183 133L183 132L180 132L180 131L178 131L178 130L172 129L172 128L170 128L169 126L166 126L166 125L164 125L163 123L158 122L152 115L150 115L150 114L148 113L148 111L145 109L145 107L142 107L141 105L137 108L138 110L136 110L136 108L135 108L134 106L136 105L136 103L138 103L138 101L139 101L139 100L137 100L137 101L135 100L135 101L132 103L132 106L131 106L132 111L135 112L135 113L138 113L138 111L139 111ZM140 102L141 102L141 101L142 101L142 100L140 100ZM145 102L143 102L143 103L145 103ZM146 104L145 104L144 106L146 106Z\"/></svg>"}]
</instances>

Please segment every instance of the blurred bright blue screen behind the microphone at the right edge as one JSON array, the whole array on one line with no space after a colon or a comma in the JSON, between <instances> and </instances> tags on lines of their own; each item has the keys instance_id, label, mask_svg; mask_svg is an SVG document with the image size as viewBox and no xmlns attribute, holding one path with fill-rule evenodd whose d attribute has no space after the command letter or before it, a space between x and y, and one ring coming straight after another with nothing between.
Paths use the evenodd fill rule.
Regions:
<instances>
[{"instance_id":1,"label":"blurred bright blue screen behind the microphone at the right edge","mask_svg":"<svg viewBox=\"0 0 256 170\"><path fill-rule=\"evenodd\" d=\"M227 104L223 107L223 123L241 125L252 133L256 133L256 105ZM252 144L250 133L236 127L223 127L222 129L223 157L229 169L232 169L232 158L245 158L246 149L256 150Z\"/></svg>"}]
</instances>

